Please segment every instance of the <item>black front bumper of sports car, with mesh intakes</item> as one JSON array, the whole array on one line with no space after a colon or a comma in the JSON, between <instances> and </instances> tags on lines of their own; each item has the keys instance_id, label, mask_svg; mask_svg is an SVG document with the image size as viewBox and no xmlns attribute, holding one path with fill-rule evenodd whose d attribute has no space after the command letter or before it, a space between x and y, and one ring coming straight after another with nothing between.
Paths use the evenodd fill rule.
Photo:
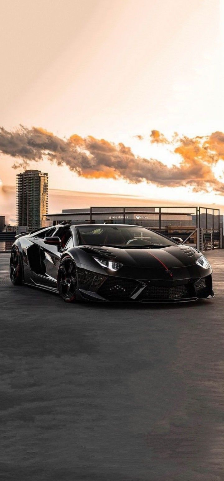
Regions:
<instances>
[{"instance_id":1,"label":"black front bumper of sports car, with mesh intakes","mask_svg":"<svg viewBox=\"0 0 224 481\"><path fill-rule=\"evenodd\" d=\"M130 279L77 270L77 298L101 302L175 303L211 299L212 275L184 279Z\"/></svg>"}]
</instances>

